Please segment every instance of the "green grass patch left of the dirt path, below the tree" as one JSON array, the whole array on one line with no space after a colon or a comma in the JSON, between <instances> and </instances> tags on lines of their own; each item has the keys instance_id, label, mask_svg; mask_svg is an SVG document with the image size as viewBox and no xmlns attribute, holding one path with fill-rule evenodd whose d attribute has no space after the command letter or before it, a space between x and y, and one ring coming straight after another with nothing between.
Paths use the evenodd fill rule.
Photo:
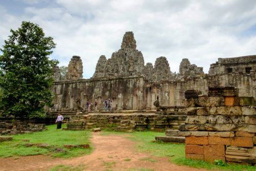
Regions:
<instances>
[{"instance_id":1,"label":"green grass patch left of the dirt path, below the tree","mask_svg":"<svg viewBox=\"0 0 256 171\"><path fill-rule=\"evenodd\" d=\"M0 143L0 157L11 156L30 156L30 155L51 155L52 157L70 158L81 155L88 155L92 152L92 147L83 148L65 148L64 144L90 144L91 133L88 131L61 131L56 130L56 125L47 126L47 131L35 132L32 134L13 135L12 141L4 141ZM62 124L62 127L66 127ZM29 142L22 141L28 139ZM25 147L26 143L47 143L49 148L41 148L37 146ZM90 144L91 146L91 144ZM66 152L56 153L56 147L61 147Z\"/></svg>"}]
</instances>

